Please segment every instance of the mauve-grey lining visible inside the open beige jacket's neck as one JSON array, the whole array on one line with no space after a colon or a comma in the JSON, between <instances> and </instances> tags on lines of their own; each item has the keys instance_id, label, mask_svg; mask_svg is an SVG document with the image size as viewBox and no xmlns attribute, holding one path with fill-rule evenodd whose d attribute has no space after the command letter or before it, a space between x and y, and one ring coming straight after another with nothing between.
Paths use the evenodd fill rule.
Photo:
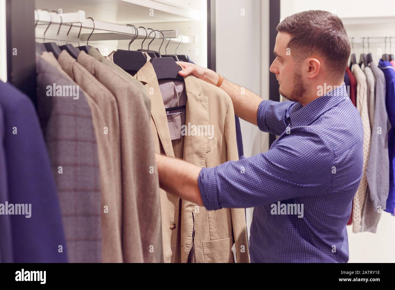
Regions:
<instances>
[{"instance_id":1,"label":"mauve-grey lining visible inside the open beige jacket's neck","mask_svg":"<svg viewBox=\"0 0 395 290\"><path fill-rule=\"evenodd\" d=\"M186 105L185 84L181 80L158 80L165 108ZM180 114L172 114L181 112ZM185 125L185 109L166 112L171 140L181 138L181 125ZM171 115L169 115L171 114Z\"/></svg>"}]
</instances>

